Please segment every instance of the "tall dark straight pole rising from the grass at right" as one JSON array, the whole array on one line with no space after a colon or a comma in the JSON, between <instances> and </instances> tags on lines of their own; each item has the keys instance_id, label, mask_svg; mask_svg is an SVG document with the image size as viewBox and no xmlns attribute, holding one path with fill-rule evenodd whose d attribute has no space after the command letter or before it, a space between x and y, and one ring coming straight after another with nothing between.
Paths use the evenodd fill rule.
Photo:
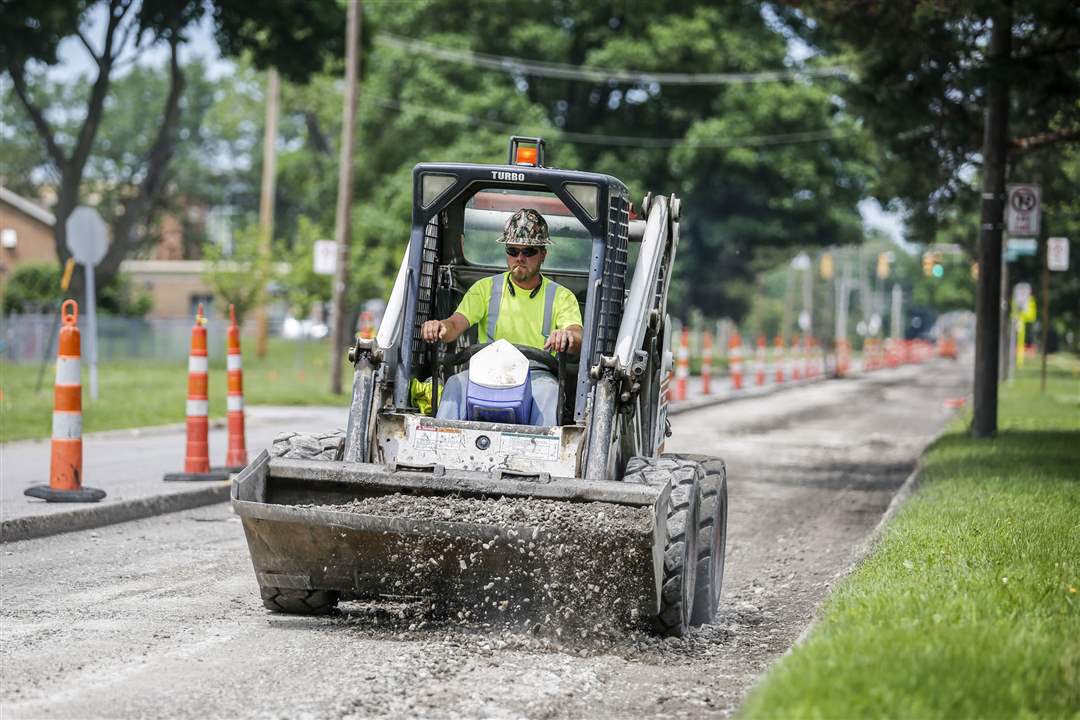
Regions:
<instances>
[{"instance_id":1,"label":"tall dark straight pole rising from the grass at right","mask_svg":"<svg viewBox=\"0 0 1080 720\"><path fill-rule=\"evenodd\" d=\"M991 18L986 121L983 132L983 200L978 232L978 286L975 298L974 417L971 434L998 432L998 339L1001 335L1001 234L1004 222L1005 162L1009 144L1009 58L1012 4Z\"/></svg>"}]
</instances>

